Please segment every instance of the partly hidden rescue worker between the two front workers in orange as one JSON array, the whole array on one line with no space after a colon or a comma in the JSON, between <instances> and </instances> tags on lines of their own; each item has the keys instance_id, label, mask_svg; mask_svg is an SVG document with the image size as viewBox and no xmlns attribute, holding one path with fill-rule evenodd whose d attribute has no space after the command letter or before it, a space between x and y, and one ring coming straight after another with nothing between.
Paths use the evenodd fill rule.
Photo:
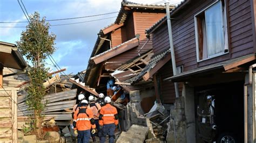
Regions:
<instances>
[{"instance_id":1,"label":"partly hidden rescue worker between the two front workers in orange","mask_svg":"<svg viewBox=\"0 0 256 143\"><path fill-rule=\"evenodd\" d=\"M93 95L89 96L89 106L93 113L93 119L95 120L95 125L97 130L99 131L99 111L102 108L98 103L95 103L95 98ZM95 134L91 134L92 141L95 142Z\"/></svg>"}]
</instances>

